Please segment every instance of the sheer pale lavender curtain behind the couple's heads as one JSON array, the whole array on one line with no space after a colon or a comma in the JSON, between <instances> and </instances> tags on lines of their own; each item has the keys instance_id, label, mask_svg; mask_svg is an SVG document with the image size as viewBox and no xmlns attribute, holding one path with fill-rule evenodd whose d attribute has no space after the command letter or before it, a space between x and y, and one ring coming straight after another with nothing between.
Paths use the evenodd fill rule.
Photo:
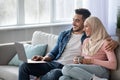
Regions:
<instances>
[{"instance_id":1,"label":"sheer pale lavender curtain behind the couple's heads","mask_svg":"<svg viewBox=\"0 0 120 80\"><path fill-rule=\"evenodd\" d=\"M117 0L83 0L83 7L103 22L110 35L116 34Z\"/></svg>"}]
</instances>

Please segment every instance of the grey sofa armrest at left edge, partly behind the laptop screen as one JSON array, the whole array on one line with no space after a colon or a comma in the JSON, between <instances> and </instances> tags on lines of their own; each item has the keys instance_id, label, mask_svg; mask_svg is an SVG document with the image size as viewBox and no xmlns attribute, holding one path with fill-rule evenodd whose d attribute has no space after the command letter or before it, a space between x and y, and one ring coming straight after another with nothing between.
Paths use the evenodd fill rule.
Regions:
<instances>
[{"instance_id":1,"label":"grey sofa armrest at left edge, partly behind the laptop screen","mask_svg":"<svg viewBox=\"0 0 120 80\"><path fill-rule=\"evenodd\" d=\"M31 43L31 41L24 41L21 43ZM6 65L16 54L14 43L0 44L0 65Z\"/></svg>"}]
</instances>

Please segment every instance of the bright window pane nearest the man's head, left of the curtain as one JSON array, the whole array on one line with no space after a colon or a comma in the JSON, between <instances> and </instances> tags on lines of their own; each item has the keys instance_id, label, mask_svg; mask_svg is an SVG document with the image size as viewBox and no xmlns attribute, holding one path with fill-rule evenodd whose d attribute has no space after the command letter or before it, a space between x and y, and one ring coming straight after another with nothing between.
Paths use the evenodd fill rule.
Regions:
<instances>
[{"instance_id":1,"label":"bright window pane nearest the man's head, left of the curtain","mask_svg":"<svg viewBox=\"0 0 120 80\"><path fill-rule=\"evenodd\" d=\"M82 7L82 0L56 0L55 5L55 21L70 21L74 9Z\"/></svg>"}]
</instances>

